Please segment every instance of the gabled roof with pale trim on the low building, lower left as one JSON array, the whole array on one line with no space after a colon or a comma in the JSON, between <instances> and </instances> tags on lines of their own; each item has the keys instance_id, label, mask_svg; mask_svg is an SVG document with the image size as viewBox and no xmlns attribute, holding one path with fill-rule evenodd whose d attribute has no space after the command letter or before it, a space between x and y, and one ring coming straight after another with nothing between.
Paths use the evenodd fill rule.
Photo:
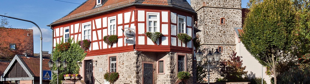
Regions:
<instances>
[{"instance_id":1,"label":"gabled roof with pale trim on the low building, lower left","mask_svg":"<svg viewBox=\"0 0 310 84\"><path fill-rule=\"evenodd\" d=\"M47 57L43 57L42 59L42 69L43 70L49 70L48 67L48 59ZM37 56L27 56L24 55L15 55L15 57L12 59L10 64L7 66L3 74L1 75L1 81L10 80L9 78L4 78L10 73L12 67L14 65L19 65L21 68L27 73L28 77L26 78L28 80L34 80L34 77L40 77L40 57ZM14 78L16 79L16 78Z\"/></svg>"}]
</instances>

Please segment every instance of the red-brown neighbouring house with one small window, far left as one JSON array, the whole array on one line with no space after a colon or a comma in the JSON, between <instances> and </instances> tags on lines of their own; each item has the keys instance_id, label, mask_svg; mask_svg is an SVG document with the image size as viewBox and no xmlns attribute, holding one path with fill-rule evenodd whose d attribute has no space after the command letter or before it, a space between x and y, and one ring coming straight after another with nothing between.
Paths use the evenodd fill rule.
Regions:
<instances>
[{"instance_id":1,"label":"red-brown neighbouring house with one small window, far left","mask_svg":"<svg viewBox=\"0 0 310 84\"><path fill-rule=\"evenodd\" d=\"M33 30L0 28L0 60L9 61L15 54L33 55Z\"/></svg>"}]
</instances>

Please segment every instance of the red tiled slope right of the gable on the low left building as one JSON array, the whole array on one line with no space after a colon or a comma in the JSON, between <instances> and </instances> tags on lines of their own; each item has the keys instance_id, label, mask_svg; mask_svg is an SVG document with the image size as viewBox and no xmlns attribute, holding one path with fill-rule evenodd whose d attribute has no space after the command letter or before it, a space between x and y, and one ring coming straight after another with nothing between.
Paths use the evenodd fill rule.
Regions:
<instances>
[{"instance_id":1,"label":"red tiled slope right of the gable on the low left building","mask_svg":"<svg viewBox=\"0 0 310 84\"><path fill-rule=\"evenodd\" d=\"M35 57L21 57L26 65L29 67L29 69L32 71L32 73L36 77L40 77L40 58L35 58ZM42 70L49 70L50 68L48 67L48 61L50 59L42 59Z\"/></svg>"}]
</instances>

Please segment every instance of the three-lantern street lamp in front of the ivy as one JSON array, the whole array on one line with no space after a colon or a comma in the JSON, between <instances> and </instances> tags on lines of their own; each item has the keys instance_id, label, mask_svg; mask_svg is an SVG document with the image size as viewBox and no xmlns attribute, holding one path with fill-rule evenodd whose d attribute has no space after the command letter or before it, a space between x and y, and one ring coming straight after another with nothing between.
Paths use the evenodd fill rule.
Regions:
<instances>
[{"instance_id":1,"label":"three-lantern street lamp in front of the ivy","mask_svg":"<svg viewBox=\"0 0 310 84\"><path fill-rule=\"evenodd\" d=\"M60 62L59 58L57 58L57 60L55 61L55 64L56 64L56 67L57 67L57 84L58 84L58 78L59 78L58 71L59 71L59 67L61 65L61 62ZM54 62L52 60L48 61L48 66L50 68L53 68L53 65L54 65ZM63 68L67 68L68 62L66 60L64 60L62 62L62 65L63 65Z\"/></svg>"}]
</instances>

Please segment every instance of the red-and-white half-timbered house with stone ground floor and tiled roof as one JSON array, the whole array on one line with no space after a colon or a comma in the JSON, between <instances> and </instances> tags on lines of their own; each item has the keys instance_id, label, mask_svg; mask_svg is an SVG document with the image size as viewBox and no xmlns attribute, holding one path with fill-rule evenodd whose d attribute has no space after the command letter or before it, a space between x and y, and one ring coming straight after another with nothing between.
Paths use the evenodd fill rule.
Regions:
<instances>
[{"instance_id":1,"label":"red-and-white half-timbered house with stone ground floor and tiled roof","mask_svg":"<svg viewBox=\"0 0 310 84\"><path fill-rule=\"evenodd\" d=\"M196 12L185 0L87 0L68 15L51 23L53 45L91 40L80 74L88 84L106 82L104 73L118 72L115 84L192 84L193 77L180 81L179 71L193 73L193 43L182 43L178 33L195 37ZM122 30L130 28L134 38ZM146 32L161 32L152 42ZM107 45L103 37L117 35L118 42ZM125 43L135 40L134 44Z\"/></svg>"}]
</instances>

